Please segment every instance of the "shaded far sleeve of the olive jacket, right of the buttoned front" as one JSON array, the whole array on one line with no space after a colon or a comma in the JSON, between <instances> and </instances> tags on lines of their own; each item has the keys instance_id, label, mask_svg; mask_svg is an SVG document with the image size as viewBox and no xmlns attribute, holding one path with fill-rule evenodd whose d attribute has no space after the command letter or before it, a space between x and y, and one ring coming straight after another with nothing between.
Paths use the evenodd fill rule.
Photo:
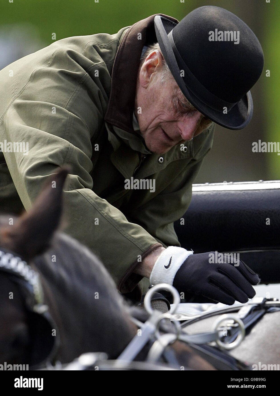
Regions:
<instances>
[{"instance_id":1,"label":"shaded far sleeve of the olive jacket, right of the buttoned front","mask_svg":"<svg viewBox=\"0 0 280 396\"><path fill-rule=\"evenodd\" d=\"M126 213L129 221L141 225L164 247L180 246L174 230L174 222L180 219L192 199L192 184L199 172L203 159L213 145L215 124L194 138L194 157L184 165L184 160L172 164L176 166L178 175L160 194L142 206ZM191 246L189 247L191 249ZM133 267L132 267L133 268ZM121 287L132 291L135 283L139 282L138 275L128 270L121 280ZM147 282L142 282L143 290Z\"/></svg>"}]
</instances>

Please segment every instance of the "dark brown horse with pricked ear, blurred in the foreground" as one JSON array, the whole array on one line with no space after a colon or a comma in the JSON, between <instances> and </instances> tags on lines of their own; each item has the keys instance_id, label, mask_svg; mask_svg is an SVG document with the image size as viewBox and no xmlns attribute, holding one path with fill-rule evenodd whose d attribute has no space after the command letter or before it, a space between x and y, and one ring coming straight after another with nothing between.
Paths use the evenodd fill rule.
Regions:
<instances>
[{"instance_id":1,"label":"dark brown horse with pricked ear, blurred in the foreground","mask_svg":"<svg viewBox=\"0 0 280 396\"><path fill-rule=\"evenodd\" d=\"M85 352L105 352L115 359L137 333L130 308L98 258L57 231L67 173L65 168L52 175L30 211L13 222L11 216L0 218L0 250L12 252L39 274L40 311L48 306L44 315L29 309L26 285L0 268L0 364L42 367L49 360L71 362ZM144 360L147 348L138 360ZM215 369L180 341L171 348L180 366Z\"/></svg>"}]
</instances>

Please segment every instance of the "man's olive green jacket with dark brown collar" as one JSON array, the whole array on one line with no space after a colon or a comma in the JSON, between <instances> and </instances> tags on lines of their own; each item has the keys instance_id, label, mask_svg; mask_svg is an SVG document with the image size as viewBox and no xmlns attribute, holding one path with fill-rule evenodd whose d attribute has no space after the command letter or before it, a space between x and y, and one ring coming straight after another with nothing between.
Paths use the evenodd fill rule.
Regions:
<instances>
[{"instance_id":1,"label":"man's olive green jacket with dark brown collar","mask_svg":"<svg viewBox=\"0 0 280 396\"><path fill-rule=\"evenodd\" d=\"M187 150L158 155L134 131L138 65L144 44L156 41L153 19L56 41L0 71L0 142L28 143L28 153L0 152L0 211L28 210L45 179L70 164L65 232L100 257L121 293L137 298L139 261L158 246L180 246L173 222L190 204L214 133L212 126ZM154 180L155 191L126 189L131 177Z\"/></svg>"}]
</instances>

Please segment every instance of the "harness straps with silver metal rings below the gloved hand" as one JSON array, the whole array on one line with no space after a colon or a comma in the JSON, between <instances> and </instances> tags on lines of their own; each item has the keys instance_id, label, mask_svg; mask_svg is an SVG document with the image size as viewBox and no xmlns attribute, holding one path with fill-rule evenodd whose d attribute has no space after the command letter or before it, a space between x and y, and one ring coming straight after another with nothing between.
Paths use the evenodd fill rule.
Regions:
<instances>
[{"instance_id":1,"label":"harness straps with silver metal rings below the gloved hand","mask_svg":"<svg viewBox=\"0 0 280 396\"><path fill-rule=\"evenodd\" d=\"M152 309L152 295L159 290L169 291L173 296L173 305L165 314ZM213 310L180 324L174 314L179 303L178 291L173 286L168 284L153 286L144 299L144 307L150 317L144 323L132 319L138 326L138 333L116 360L108 360L107 355L102 352L86 353L65 366L63 370L181 370L182 366L169 348L176 340L191 346L196 353L219 370L251 370L249 366L230 356L226 351L240 345L246 329L252 327L266 312L280 310L280 301L255 297L247 304ZM234 311L238 312L233 314ZM186 333L184 328L188 324L219 313L223 315L216 320L211 332L193 335ZM164 324L161 326L161 322L166 319L172 321L174 331L171 331L170 326ZM213 347L214 344L216 347ZM134 358L146 345L149 346L146 360L135 361ZM186 367L183 369L188 370Z\"/></svg>"}]
</instances>

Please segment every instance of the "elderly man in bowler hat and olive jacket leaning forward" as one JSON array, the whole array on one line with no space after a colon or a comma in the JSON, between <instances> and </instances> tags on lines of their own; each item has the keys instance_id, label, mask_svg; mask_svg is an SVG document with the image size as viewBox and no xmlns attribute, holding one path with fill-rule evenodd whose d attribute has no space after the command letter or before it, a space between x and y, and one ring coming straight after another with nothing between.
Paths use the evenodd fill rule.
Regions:
<instances>
[{"instance_id":1,"label":"elderly man in bowler hat and olive jacket leaning forward","mask_svg":"<svg viewBox=\"0 0 280 396\"><path fill-rule=\"evenodd\" d=\"M212 6L19 59L0 72L2 211L29 209L44 180L70 164L66 232L100 257L121 293L139 300L167 282L183 296L245 303L257 274L183 249L173 222L190 204L215 123L251 120L249 89L262 69L253 32Z\"/></svg>"}]
</instances>

